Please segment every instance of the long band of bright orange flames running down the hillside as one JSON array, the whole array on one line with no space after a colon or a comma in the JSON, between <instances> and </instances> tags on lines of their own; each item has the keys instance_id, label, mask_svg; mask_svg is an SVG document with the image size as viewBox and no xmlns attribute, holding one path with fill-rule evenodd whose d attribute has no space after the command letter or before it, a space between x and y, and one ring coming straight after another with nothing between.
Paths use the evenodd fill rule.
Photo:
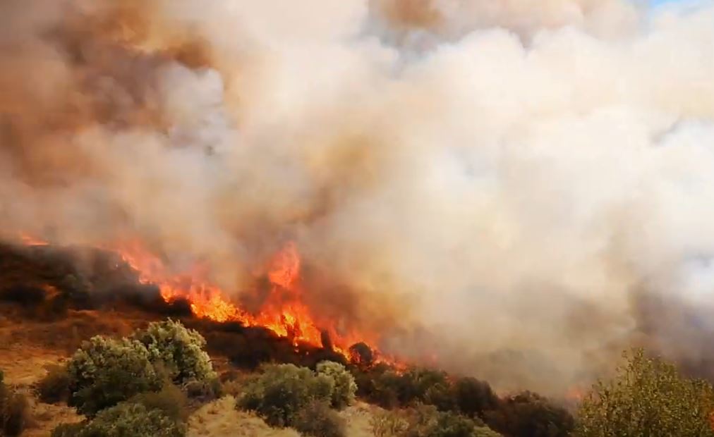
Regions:
<instances>
[{"instance_id":1,"label":"long band of bright orange flames running down the hillside","mask_svg":"<svg viewBox=\"0 0 714 437\"><path fill-rule=\"evenodd\" d=\"M161 259L145 250L140 242L120 245L118 252L139 273L140 282L158 286L166 302L186 299L196 317L216 322L240 322L246 327L264 327L291 339L296 346L299 343L326 346L323 344L323 333L326 333L332 348L347 358L352 344L373 345L378 339L378 336L364 332L338 332L331 321L318 323L303 299L301 258L294 242L288 242L269 262L270 290L256 314L241 309L231 302L223 289L211 284L206 266L198 265L190 272L171 274ZM379 356L378 361L391 363L394 360Z\"/></svg>"}]
</instances>

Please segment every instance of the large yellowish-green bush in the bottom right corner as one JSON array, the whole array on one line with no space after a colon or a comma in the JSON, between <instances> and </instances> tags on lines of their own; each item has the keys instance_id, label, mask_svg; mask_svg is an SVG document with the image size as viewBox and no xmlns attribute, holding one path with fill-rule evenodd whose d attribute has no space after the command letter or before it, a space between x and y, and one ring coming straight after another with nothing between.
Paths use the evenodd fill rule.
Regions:
<instances>
[{"instance_id":1,"label":"large yellowish-green bush in the bottom right corner","mask_svg":"<svg viewBox=\"0 0 714 437\"><path fill-rule=\"evenodd\" d=\"M580 406L577 436L714 436L711 384L681 376L675 366L625 354L610 381L599 381Z\"/></svg>"}]
</instances>

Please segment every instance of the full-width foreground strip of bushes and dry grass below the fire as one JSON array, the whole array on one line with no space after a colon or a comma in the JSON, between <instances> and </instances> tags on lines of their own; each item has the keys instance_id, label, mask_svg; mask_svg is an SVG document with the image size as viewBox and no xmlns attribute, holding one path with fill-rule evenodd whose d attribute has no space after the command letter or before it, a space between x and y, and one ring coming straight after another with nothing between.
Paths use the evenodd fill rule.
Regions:
<instances>
[{"instance_id":1,"label":"full-width foreground strip of bushes and dry grass below the fire","mask_svg":"<svg viewBox=\"0 0 714 437\"><path fill-rule=\"evenodd\" d=\"M171 319L123 332L81 342L33 391L2 384L4 435L48 436L35 431L43 408L72 406L81 416L53 419L52 436L714 436L712 386L644 351L573 415L531 392L498 396L486 381L368 359L216 369L203 336Z\"/></svg>"}]
</instances>

